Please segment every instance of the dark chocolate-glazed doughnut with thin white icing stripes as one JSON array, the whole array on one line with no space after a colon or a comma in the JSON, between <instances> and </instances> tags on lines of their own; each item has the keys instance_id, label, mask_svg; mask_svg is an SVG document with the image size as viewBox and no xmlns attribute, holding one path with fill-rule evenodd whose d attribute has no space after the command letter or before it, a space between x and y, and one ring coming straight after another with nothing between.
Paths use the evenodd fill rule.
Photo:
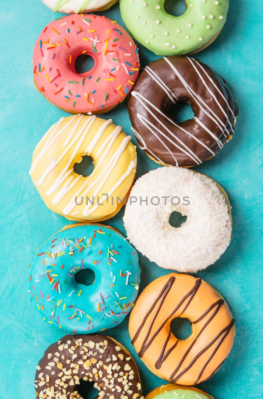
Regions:
<instances>
[{"instance_id":1,"label":"dark chocolate-glazed doughnut with thin white icing stripes","mask_svg":"<svg viewBox=\"0 0 263 399\"><path fill-rule=\"evenodd\" d=\"M193 119L177 123L170 106L187 101ZM128 99L132 131L155 162L190 167L215 156L232 138L238 107L215 71L190 57L164 57L140 74Z\"/></svg>"}]
</instances>

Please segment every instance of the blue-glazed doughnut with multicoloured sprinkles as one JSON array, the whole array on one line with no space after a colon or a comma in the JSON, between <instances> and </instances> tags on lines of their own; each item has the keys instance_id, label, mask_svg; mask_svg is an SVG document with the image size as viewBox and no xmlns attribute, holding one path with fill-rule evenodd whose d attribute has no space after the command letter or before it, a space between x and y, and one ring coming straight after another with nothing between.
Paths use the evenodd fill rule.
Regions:
<instances>
[{"instance_id":1,"label":"blue-glazed doughnut with multicoloured sprinkles","mask_svg":"<svg viewBox=\"0 0 263 399\"><path fill-rule=\"evenodd\" d=\"M91 269L92 285L77 282ZM117 230L99 224L65 226L34 256L28 289L49 324L74 334L117 326L138 294L140 267L134 248Z\"/></svg>"}]
</instances>

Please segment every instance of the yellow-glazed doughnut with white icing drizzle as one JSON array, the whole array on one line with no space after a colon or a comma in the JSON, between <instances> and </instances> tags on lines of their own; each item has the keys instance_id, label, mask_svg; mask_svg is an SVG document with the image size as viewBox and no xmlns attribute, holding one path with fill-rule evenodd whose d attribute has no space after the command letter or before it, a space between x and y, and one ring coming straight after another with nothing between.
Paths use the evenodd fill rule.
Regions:
<instances>
[{"instance_id":1,"label":"yellow-glazed doughnut with white icing drizzle","mask_svg":"<svg viewBox=\"0 0 263 399\"><path fill-rule=\"evenodd\" d=\"M84 155L94 163L87 177L74 172ZM34 150L29 174L52 211L70 220L101 221L123 206L136 163L136 148L121 126L95 115L74 115L47 130Z\"/></svg>"}]
</instances>

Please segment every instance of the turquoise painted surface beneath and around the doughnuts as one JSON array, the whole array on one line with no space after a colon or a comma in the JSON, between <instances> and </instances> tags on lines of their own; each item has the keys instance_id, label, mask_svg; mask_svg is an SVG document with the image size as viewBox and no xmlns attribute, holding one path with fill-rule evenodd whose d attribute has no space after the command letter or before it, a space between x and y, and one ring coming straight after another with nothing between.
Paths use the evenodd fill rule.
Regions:
<instances>
[{"instance_id":1,"label":"turquoise painted surface beneath and around the doughnuts","mask_svg":"<svg viewBox=\"0 0 263 399\"><path fill-rule=\"evenodd\" d=\"M233 238L215 265L196 276L212 284L236 319L233 349L220 370L198 385L215 399L263 397L262 388L262 14L257 0L230 0L219 38L196 55L223 76L239 106L233 139L195 170L225 188L233 213ZM123 25L119 4L104 13ZM40 0L0 1L0 398L34 399L36 365L63 331L45 323L30 304L28 266L38 247L67 220L50 211L28 170L34 147L51 124L68 114L50 105L33 84L32 50L44 26L57 18ZM139 45L144 67L156 59ZM261 59L260 59L261 58ZM105 115L131 134L126 103ZM132 141L135 144L134 138ZM157 165L138 148L138 174ZM109 224L125 234L123 210ZM150 232L148 232L150 234ZM168 273L140 255L140 291ZM125 321L105 334L122 342L138 364L143 393L164 381L142 364ZM89 397L89 395L88 395ZM91 399L91 398L89 398Z\"/></svg>"}]
</instances>

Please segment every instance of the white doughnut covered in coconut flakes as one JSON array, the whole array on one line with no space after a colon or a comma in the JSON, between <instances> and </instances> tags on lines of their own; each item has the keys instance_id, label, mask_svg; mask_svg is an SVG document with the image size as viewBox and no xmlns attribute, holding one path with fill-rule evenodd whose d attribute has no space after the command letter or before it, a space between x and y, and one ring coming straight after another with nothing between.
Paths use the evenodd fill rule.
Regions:
<instances>
[{"instance_id":1,"label":"white doughnut covered in coconut flakes","mask_svg":"<svg viewBox=\"0 0 263 399\"><path fill-rule=\"evenodd\" d=\"M174 211L187 216L180 227L169 223ZM144 174L131 190L123 221L142 255L180 272L212 265L231 240L227 194L208 176L189 169L164 167Z\"/></svg>"}]
</instances>

